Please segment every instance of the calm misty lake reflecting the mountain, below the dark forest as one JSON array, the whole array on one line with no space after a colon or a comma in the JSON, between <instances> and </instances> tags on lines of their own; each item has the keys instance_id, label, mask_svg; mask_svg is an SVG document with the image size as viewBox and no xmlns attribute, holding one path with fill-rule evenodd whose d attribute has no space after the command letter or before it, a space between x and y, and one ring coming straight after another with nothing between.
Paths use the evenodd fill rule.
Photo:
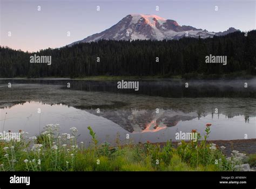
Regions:
<instances>
[{"instance_id":1,"label":"calm misty lake reflecting the mountain, below the dark forest","mask_svg":"<svg viewBox=\"0 0 256 189\"><path fill-rule=\"evenodd\" d=\"M124 144L176 141L177 132L204 134L211 123L210 140L256 138L256 79L138 81L135 91L117 89L117 81L0 79L1 132L35 136L58 123L61 133L76 126L78 139L89 144L91 126L100 142L114 145L117 138Z\"/></svg>"}]
</instances>

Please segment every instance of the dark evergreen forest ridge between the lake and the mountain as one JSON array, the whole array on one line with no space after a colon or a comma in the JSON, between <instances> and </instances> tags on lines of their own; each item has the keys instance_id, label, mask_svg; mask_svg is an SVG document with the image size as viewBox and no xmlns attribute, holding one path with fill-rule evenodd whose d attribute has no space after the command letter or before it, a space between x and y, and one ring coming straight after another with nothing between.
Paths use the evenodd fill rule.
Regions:
<instances>
[{"instance_id":1,"label":"dark evergreen forest ridge between the lake and the mountain","mask_svg":"<svg viewBox=\"0 0 256 189\"><path fill-rule=\"evenodd\" d=\"M100 40L60 49L23 52L0 47L0 77L173 76L244 71L256 73L256 30L213 38ZM30 56L51 56L51 65L31 64ZM209 55L227 56L227 65L206 64ZM99 57L100 62L97 62ZM156 57L159 62L156 62Z\"/></svg>"}]
</instances>

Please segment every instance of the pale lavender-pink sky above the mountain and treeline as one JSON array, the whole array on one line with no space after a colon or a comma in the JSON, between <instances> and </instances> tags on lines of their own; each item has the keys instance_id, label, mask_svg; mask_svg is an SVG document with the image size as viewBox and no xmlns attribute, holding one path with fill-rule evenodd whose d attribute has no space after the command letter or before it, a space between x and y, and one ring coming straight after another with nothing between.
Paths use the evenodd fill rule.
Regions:
<instances>
[{"instance_id":1,"label":"pale lavender-pink sky above the mountain and treeline","mask_svg":"<svg viewBox=\"0 0 256 189\"><path fill-rule=\"evenodd\" d=\"M129 14L153 14L208 31L255 29L256 0L82 1L0 0L1 46L23 51L59 48L99 33ZM100 11L96 10L100 6ZM38 11L41 6L41 11ZM159 6L159 11L156 11ZM215 11L218 6L218 11ZM10 34L11 36L8 36ZM70 32L70 37L67 36Z\"/></svg>"}]
</instances>

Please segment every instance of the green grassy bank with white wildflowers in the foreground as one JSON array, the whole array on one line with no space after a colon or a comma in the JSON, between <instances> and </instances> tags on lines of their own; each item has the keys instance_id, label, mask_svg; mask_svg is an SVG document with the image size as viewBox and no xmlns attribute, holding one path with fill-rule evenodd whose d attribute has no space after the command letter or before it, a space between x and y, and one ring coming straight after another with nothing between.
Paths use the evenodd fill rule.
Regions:
<instances>
[{"instance_id":1,"label":"green grassy bank with white wildflowers in the foreground","mask_svg":"<svg viewBox=\"0 0 256 189\"><path fill-rule=\"evenodd\" d=\"M77 143L77 129L70 133L58 132L59 125L46 125L38 137L21 141L2 141L0 147L1 171L233 171L244 162L245 154L233 151L227 158L224 146L207 144L211 125L205 136L197 134L198 141L181 141L173 147L169 141L164 146L151 144L120 145L99 144L96 133L88 127L90 146ZM197 132L193 130L192 132ZM250 160L252 161L254 157Z\"/></svg>"}]
</instances>

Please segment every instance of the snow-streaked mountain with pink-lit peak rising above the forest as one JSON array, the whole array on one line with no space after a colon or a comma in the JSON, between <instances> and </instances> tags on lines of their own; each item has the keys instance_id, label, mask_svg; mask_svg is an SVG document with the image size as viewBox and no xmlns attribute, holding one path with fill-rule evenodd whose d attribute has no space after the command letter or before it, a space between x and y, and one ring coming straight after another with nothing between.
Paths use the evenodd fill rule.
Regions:
<instances>
[{"instance_id":1,"label":"snow-streaked mountain with pink-lit peak rising above the forest","mask_svg":"<svg viewBox=\"0 0 256 189\"><path fill-rule=\"evenodd\" d=\"M207 30L197 29L192 26L180 26L172 19L165 19L157 15L131 14L124 17L111 28L100 33L93 34L76 43L94 42L100 39L106 40L136 40L136 39L179 39L182 37L213 37L227 33L239 31L230 28L224 32L208 32Z\"/></svg>"}]
</instances>

